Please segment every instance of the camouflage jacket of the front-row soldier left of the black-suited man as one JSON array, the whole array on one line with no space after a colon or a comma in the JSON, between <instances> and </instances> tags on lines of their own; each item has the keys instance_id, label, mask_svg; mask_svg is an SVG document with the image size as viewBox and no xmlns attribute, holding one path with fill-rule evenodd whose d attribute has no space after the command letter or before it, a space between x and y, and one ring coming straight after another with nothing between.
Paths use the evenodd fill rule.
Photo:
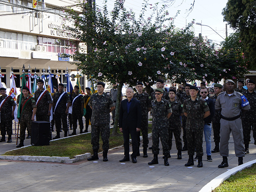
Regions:
<instances>
[{"instance_id":1,"label":"camouflage jacket of the front-row soldier left of the black-suited man","mask_svg":"<svg viewBox=\"0 0 256 192\"><path fill-rule=\"evenodd\" d=\"M92 94L89 100L89 106L92 106L92 125L101 125L110 123L110 108L114 107L113 99L106 93L98 95Z\"/></svg>"}]
</instances>

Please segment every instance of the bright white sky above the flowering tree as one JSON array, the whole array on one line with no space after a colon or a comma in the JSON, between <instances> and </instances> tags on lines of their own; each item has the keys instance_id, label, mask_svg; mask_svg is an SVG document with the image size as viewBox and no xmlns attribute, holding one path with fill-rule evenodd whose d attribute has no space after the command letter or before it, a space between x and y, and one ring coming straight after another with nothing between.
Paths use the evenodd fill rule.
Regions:
<instances>
[{"instance_id":1,"label":"bright white sky above the flowering tree","mask_svg":"<svg viewBox=\"0 0 256 192\"><path fill-rule=\"evenodd\" d=\"M95 1L98 6L102 7L103 0ZM190 14L188 14L186 11L190 8L190 4L192 4L194 0L183 0L183 3L182 0L176 0L172 3L172 5L170 5L170 2L167 2L168 0L165 1L166 2L164 3L163 0L149 0L148 3L155 4L156 2L159 2L160 4L169 5L167 10L170 13L170 16L175 16L176 12L180 10L180 14L178 14L174 20L174 25L178 28L184 28L187 23L195 19L196 23L208 25L218 34L220 34L220 36L226 38L226 22L223 22L221 12L226 6L228 0L195 0L194 9L192 12L190 12ZM115 0L108 0L108 10L112 10L114 2ZM143 0L126 0L124 2L124 6L126 8L132 8L136 14L140 14L143 2ZM151 10L148 8L148 16L150 16L150 12ZM207 36L207 38L213 40L214 43L220 44L223 39L208 26L194 24L195 36L198 36L198 34L202 32L202 36ZM228 26L228 35L232 32L234 31Z\"/></svg>"}]
</instances>

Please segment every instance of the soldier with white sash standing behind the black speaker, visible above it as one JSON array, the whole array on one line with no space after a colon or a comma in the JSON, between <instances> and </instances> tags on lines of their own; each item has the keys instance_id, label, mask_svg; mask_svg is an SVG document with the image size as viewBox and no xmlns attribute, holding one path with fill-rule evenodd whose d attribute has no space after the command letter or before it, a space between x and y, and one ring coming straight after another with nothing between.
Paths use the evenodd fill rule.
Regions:
<instances>
[{"instance_id":1,"label":"soldier with white sash standing behind the black speaker, visible above it","mask_svg":"<svg viewBox=\"0 0 256 192\"><path fill-rule=\"evenodd\" d=\"M48 90L44 92L44 81L38 80L38 90L35 92L35 100L36 100L36 120L37 121L47 121L50 122L51 109L52 109L52 97ZM40 95L42 96L40 97ZM40 98L39 98L40 97ZM40 99L40 101L38 100Z\"/></svg>"}]
</instances>

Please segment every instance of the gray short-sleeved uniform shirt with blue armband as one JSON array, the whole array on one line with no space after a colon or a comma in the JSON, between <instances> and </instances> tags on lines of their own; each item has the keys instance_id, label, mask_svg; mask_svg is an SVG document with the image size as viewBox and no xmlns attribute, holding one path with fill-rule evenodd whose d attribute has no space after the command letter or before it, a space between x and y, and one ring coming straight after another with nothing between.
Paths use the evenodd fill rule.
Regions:
<instances>
[{"instance_id":1,"label":"gray short-sleeved uniform shirt with blue armband","mask_svg":"<svg viewBox=\"0 0 256 192\"><path fill-rule=\"evenodd\" d=\"M215 103L215 109L221 109L222 116L226 118L232 118L240 115L242 109L250 109L249 104L244 107L241 106L241 95L242 94L236 91L234 91L230 96L227 94L226 91L220 93Z\"/></svg>"}]
</instances>

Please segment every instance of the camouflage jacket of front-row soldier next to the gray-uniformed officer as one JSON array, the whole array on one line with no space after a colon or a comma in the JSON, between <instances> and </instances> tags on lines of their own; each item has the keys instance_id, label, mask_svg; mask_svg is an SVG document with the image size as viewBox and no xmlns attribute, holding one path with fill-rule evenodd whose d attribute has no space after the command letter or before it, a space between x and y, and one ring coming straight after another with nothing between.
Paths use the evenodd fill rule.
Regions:
<instances>
[{"instance_id":1,"label":"camouflage jacket of front-row soldier next to the gray-uniformed officer","mask_svg":"<svg viewBox=\"0 0 256 192\"><path fill-rule=\"evenodd\" d=\"M187 113L186 129L204 130L204 113L210 111L207 103L199 97L192 101L191 98L184 101L183 112Z\"/></svg>"}]
</instances>

